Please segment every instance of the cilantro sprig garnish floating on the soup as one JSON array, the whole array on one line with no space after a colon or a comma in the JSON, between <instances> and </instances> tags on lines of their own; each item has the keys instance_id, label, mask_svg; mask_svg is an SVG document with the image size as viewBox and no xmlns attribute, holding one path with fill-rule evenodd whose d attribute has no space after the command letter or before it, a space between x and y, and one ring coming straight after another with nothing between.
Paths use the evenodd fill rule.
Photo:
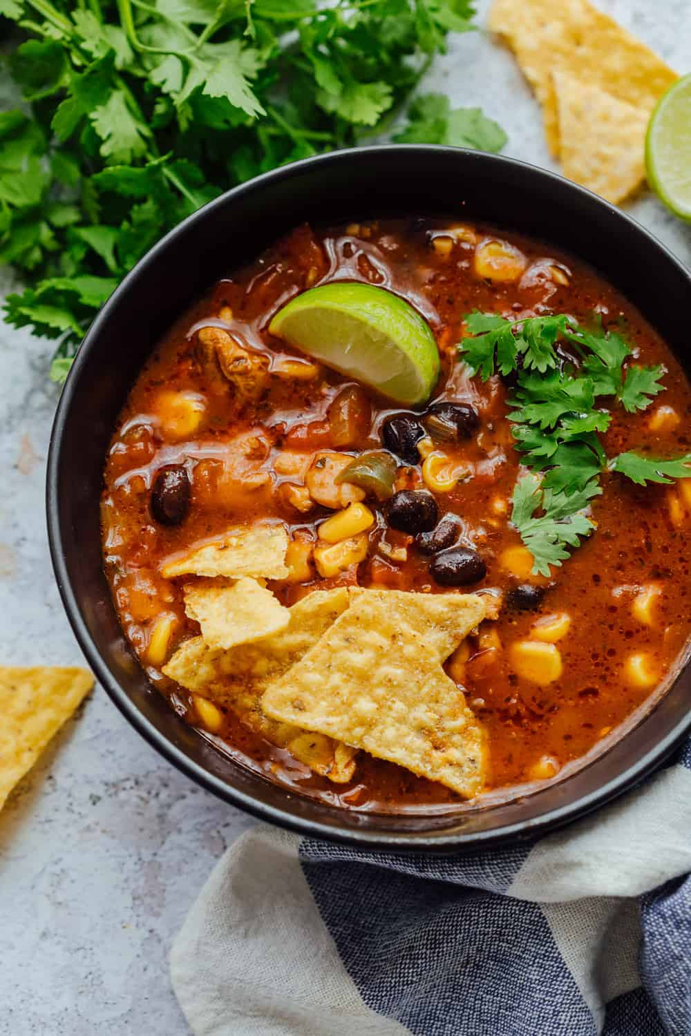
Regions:
<instances>
[{"instance_id":1,"label":"cilantro sprig garnish floating on the soup","mask_svg":"<svg viewBox=\"0 0 691 1036\"><path fill-rule=\"evenodd\" d=\"M663 367L625 366L633 350L621 335L598 323L583 328L566 314L511 321L474 312L464 319L473 337L459 349L473 373L483 380L497 371L516 374L509 403L516 449L526 467L543 474L516 483L512 521L532 554L535 572L549 575L551 565L569 556L567 547L593 531L589 501L602 493L604 470L638 485L691 477L691 454L676 460L605 454L599 434L612 413L602 400L635 413L664 390Z\"/></svg>"}]
</instances>

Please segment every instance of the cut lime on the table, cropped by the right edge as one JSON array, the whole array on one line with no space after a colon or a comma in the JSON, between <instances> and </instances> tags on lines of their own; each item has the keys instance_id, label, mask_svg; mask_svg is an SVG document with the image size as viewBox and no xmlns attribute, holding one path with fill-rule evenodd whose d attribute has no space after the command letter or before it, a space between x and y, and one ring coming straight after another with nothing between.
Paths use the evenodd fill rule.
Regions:
<instances>
[{"instance_id":1,"label":"cut lime on the table, cropped by the right edge","mask_svg":"<svg viewBox=\"0 0 691 1036\"><path fill-rule=\"evenodd\" d=\"M658 102L647 126L645 169L667 208L691 220L691 75Z\"/></svg>"}]
</instances>

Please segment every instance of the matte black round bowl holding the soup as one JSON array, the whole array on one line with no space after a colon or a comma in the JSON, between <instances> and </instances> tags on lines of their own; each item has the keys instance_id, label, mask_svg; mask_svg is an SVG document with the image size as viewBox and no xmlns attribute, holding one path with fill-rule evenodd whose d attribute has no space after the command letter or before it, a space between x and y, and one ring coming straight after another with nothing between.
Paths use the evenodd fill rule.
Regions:
<instances>
[{"instance_id":1,"label":"matte black round bowl holding the soup","mask_svg":"<svg viewBox=\"0 0 691 1036\"><path fill-rule=\"evenodd\" d=\"M625 737L542 790L454 815L359 813L294 795L217 750L152 689L127 646L103 572L98 494L118 411L159 337L219 276L299 223L434 212L523 231L586 260L639 307L691 373L689 274L618 209L509 159L442 147L361 148L235 188L151 249L86 336L58 405L48 461L58 586L84 654L121 712L171 762L227 802L361 847L460 851L553 829L638 782L691 726L691 669L684 664Z\"/></svg>"}]
</instances>

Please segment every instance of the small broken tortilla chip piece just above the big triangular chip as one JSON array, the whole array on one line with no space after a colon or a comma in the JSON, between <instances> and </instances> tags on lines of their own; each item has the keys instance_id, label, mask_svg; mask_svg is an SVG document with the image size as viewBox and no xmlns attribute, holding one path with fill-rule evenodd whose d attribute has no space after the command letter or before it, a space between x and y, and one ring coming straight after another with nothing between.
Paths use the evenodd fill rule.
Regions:
<instances>
[{"instance_id":1,"label":"small broken tortilla chip piece just above the big triangular chip","mask_svg":"<svg viewBox=\"0 0 691 1036\"><path fill-rule=\"evenodd\" d=\"M199 623L209 648L226 650L278 633L290 620L271 592L248 576L231 584L209 579L185 586L184 610Z\"/></svg>"}]
</instances>

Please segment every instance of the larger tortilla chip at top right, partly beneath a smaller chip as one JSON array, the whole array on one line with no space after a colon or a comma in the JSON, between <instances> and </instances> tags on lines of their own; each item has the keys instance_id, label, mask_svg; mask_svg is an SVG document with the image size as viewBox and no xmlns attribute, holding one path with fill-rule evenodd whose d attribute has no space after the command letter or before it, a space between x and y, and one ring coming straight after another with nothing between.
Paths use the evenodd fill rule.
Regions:
<instances>
[{"instance_id":1,"label":"larger tortilla chip at top right, partly beneath a smaller chip","mask_svg":"<svg viewBox=\"0 0 691 1036\"><path fill-rule=\"evenodd\" d=\"M543 106L545 135L559 156L552 71L564 71L626 100L646 116L678 76L644 44L587 0L495 0L489 28L505 36ZM593 126L581 127L587 146Z\"/></svg>"}]
</instances>

